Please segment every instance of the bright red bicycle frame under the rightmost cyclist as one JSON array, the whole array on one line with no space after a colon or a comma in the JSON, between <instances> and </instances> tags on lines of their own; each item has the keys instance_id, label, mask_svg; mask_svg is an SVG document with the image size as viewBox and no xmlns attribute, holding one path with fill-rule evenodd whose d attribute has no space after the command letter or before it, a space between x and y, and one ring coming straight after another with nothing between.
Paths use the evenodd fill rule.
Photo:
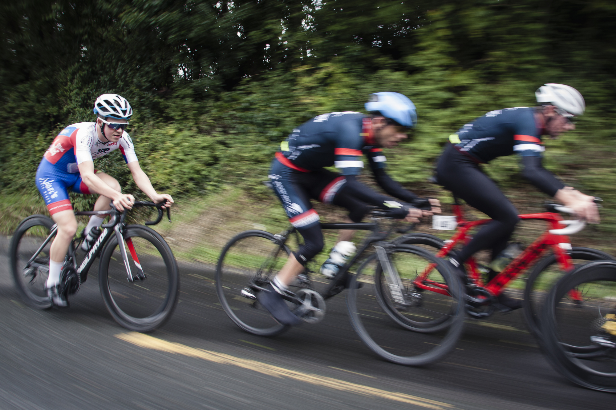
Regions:
<instances>
[{"instance_id":1,"label":"bright red bicycle frame under the rightmost cyclist","mask_svg":"<svg viewBox=\"0 0 616 410\"><path fill-rule=\"evenodd\" d=\"M462 206L460 204L454 204L452 207L453 213L458 220L458 228L456 228L456 233L452 236L452 238L445 241L445 245L437 253L437 257L444 257L447 255L453 247L456 246L456 244L461 242L468 244L472 239L472 236L468 235L472 228L492 221L492 219L467 221L464 219ZM562 228L560 222L563 219L560 214L555 212L538 212L537 214L522 214L519 215L519 217L520 219L544 220L545 222L548 222L549 225L546 231L539 238L524 249L521 254L517 255L514 260L512 260L488 283L484 283L484 281L482 281L480 272L477 269L477 263L472 257L470 257L466 262L469 267L468 277L471 279L472 283L476 286L487 289L487 291L492 295L499 295L502 292L503 287L505 287L513 279L517 278L517 276L519 276L525 268L535 262L535 260L537 260L549 247L552 248L554 254L556 255L556 260L561 265L562 270L569 271L573 268L571 255L568 253L571 249L569 236L550 233L550 230L559 230ZM434 267L426 268L426 270L415 279L415 286L418 287L418 289L448 295L449 293L446 285L432 283L432 281L428 279L432 268Z\"/></svg>"}]
</instances>

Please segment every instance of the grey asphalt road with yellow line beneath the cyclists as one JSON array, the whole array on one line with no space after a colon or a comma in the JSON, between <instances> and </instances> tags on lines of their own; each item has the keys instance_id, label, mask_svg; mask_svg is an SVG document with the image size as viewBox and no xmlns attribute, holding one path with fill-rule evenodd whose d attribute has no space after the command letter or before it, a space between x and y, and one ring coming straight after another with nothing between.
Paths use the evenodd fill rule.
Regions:
<instances>
[{"instance_id":1,"label":"grey asphalt road with yellow line beneath the cyclists","mask_svg":"<svg viewBox=\"0 0 616 410\"><path fill-rule=\"evenodd\" d=\"M111 319L91 279L64 310L18 298L0 237L0 409L614 409L614 395L570 384L521 312L466 325L426 368L381 360L358 340L344 294L321 323L252 336L221 307L211 267L179 263L174 316L150 334Z\"/></svg>"}]
</instances>

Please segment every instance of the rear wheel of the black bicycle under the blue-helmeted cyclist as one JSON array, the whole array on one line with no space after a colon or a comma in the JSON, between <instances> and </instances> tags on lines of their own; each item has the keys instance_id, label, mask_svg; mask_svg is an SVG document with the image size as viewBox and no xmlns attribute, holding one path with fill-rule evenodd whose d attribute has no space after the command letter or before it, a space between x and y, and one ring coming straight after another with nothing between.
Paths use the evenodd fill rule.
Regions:
<instances>
[{"instance_id":1,"label":"rear wheel of the black bicycle under the blue-helmeted cyclist","mask_svg":"<svg viewBox=\"0 0 616 410\"><path fill-rule=\"evenodd\" d=\"M278 257L280 252L284 258ZM222 249L216 265L216 293L222 309L243 331L257 336L277 336L290 328L275 321L259 302L241 293L251 281L272 278L290 253L274 234L261 230L240 232Z\"/></svg>"}]
</instances>

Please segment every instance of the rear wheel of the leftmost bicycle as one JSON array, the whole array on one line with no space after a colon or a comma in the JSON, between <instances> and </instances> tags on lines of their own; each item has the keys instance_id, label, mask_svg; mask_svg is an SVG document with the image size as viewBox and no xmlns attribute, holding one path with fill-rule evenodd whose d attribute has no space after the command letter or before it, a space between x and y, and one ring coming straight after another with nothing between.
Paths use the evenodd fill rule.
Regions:
<instances>
[{"instance_id":1,"label":"rear wheel of the leftmost bicycle","mask_svg":"<svg viewBox=\"0 0 616 410\"><path fill-rule=\"evenodd\" d=\"M29 271L28 276L32 277L28 279L28 284L25 284L25 272L20 268L20 265L25 265L30 260L33 253L51 233L53 225L54 221L45 215L31 215L20 222L10 242L10 270L15 288L26 304L43 310L52 307L51 300L47 297L47 276L45 275L45 273L49 274L49 247L52 241L49 241L46 249L41 252L44 254L43 257L37 258L41 265L47 266L47 272L44 272L44 268ZM31 233L28 233L28 231L31 231ZM30 284L32 286L28 286ZM35 285L38 292L31 289Z\"/></svg>"}]
</instances>

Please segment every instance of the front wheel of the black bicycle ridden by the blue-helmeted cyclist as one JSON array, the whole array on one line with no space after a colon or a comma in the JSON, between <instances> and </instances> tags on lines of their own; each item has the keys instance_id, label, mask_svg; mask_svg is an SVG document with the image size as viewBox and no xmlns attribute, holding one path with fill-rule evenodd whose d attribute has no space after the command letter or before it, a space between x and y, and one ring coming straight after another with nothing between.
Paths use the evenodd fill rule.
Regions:
<instances>
[{"instance_id":1,"label":"front wheel of the black bicycle ridden by the blue-helmeted cyclist","mask_svg":"<svg viewBox=\"0 0 616 410\"><path fill-rule=\"evenodd\" d=\"M455 348L463 331L460 279L444 260L416 246L395 247L389 259L400 276L405 303L390 291L379 259L370 257L352 279L347 295L351 324L363 342L386 360L408 366L434 363ZM416 288L413 279L426 271L433 289L448 291Z\"/></svg>"}]
</instances>

